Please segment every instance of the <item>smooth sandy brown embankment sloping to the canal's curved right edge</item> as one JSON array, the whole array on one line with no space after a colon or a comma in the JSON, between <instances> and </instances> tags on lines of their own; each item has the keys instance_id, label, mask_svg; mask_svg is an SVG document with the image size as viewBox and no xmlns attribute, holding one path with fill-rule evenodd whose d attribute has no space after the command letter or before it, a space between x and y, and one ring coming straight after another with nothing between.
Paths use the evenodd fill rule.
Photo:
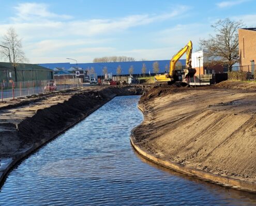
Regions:
<instances>
[{"instance_id":1,"label":"smooth sandy brown embankment sloping to the canal's curved right edge","mask_svg":"<svg viewBox=\"0 0 256 206\"><path fill-rule=\"evenodd\" d=\"M256 183L256 92L155 87L133 142L162 160Z\"/></svg>"}]
</instances>

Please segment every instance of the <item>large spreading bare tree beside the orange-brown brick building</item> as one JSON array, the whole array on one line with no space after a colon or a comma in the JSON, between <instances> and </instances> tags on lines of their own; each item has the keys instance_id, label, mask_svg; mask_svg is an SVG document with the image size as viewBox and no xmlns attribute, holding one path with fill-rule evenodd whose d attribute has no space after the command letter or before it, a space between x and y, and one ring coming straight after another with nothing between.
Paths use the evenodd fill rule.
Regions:
<instances>
[{"instance_id":1,"label":"large spreading bare tree beside the orange-brown brick building","mask_svg":"<svg viewBox=\"0 0 256 206\"><path fill-rule=\"evenodd\" d=\"M201 49L206 49L204 60L206 64L228 64L229 71L232 65L238 62L238 28L245 26L243 21L224 19L217 21L214 28L216 35L209 35L209 39L200 40Z\"/></svg>"}]
</instances>

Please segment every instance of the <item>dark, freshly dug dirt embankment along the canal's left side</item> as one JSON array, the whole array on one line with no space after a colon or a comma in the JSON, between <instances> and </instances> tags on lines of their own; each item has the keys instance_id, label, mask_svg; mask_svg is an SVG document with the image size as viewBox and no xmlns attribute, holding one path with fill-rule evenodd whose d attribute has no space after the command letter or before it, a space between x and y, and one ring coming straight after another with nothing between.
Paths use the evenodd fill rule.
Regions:
<instances>
[{"instance_id":1,"label":"dark, freshly dug dirt embankment along the canal's left side","mask_svg":"<svg viewBox=\"0 0 256 206\"><path fill-rule=\"evenodd\" d=\"M0 182L22 157L76 124L118 95L139 95L148 87L88 87L0 106Z\"/></svg>"}]
</instances>

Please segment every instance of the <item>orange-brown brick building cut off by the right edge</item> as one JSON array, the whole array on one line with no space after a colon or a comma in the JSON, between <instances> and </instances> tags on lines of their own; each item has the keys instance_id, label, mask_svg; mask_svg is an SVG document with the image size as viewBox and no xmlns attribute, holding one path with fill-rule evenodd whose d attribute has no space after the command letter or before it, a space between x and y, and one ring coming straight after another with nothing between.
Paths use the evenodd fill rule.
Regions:
<instances>
[{"instance_id":1,"label":"orange-brown brick building cut off by the right edge","mask_svg":"<svg viewBox=\"0 0 256 206\"><path fill-rule=\"evenodd\" d=\"M256 61L256 28L238 29L238 41L240 69L253 74Z\"/></svg>"}]
</instances>

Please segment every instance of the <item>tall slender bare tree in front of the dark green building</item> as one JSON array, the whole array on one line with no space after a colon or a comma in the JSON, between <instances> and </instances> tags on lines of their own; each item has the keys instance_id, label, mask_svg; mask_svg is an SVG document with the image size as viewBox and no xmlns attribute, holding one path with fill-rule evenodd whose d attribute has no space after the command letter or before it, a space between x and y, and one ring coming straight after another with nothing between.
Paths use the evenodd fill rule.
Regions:
<instances>
[{"instance_id":1,"label":"tall slender bare tree in front of the dark green building","mask_svg":"<svg viewBox=\"0 0 256 206\"><path fill-rule=\"evenodd\" d=\"M6 46L10 49L10 61L14 68L15 81L17 82L16 67L19 63L28 61L22 50L21 39L19 39L16 30L13 27L9 27L6 34L3 36L3 41L1 43L3 46ZM9 60L9 53L6 48L1 48L0 52L5 59Z\"/></svg>"}]
</instances>

